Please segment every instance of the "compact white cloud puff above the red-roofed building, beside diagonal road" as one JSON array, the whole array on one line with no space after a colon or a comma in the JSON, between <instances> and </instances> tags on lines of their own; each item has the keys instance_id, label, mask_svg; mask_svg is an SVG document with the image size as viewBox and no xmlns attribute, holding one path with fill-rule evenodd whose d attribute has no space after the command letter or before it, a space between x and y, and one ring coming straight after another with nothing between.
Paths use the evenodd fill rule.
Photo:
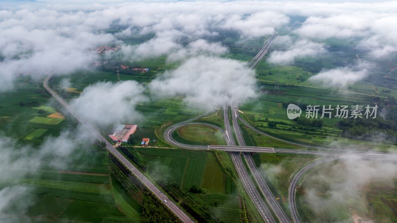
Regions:
<instances>
[{"instance_id":1,"label":"compact white cloud puff above the red-roofed building, beside diagonal road","mask_svg":"<svg viewBox=\"0 0 397 223\"><path fill-rule=\"evenodd\" d=\"M137 103L147 101L136 81L99 82L84 88L70 106L85 120L99 126L129 123L141 118Z\"/></svg>"}]
</instances>

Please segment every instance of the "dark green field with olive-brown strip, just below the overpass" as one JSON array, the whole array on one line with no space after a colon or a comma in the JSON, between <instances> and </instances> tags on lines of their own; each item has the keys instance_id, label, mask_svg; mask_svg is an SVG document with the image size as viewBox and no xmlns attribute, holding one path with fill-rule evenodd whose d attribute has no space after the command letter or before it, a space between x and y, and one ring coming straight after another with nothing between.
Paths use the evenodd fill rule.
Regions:
<instances>
[{"instance_id":1,"label":"dark green field with olive-brown strip, just below the overpass","mask_svg":"<svg viewBox=\"0 0 397 223\"><path fill-rule=\"evenodd\" d=\"M210 193L232 192L230 179L227 179L213 152L158 148L135 149L147 160L148 174L154 179L166 177L186 191L196 185ZM156 168L151 168L151 166Z\"/></svg>"}]
</instances>

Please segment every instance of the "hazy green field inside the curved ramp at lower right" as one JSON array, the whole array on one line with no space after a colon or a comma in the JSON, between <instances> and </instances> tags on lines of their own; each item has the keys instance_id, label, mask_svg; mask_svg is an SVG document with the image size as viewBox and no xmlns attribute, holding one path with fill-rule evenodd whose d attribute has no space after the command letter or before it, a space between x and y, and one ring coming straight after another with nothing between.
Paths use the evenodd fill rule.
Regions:
<instances>
[{"instance_id":1,"label":"hazy green field inside the curved ramp at lower right","mask_svg":"<svg viewBox=\"0 0 397 223\"><path fill-rule=\"evenodd\" d=\"M335 193L332 192L334 187L332 183L330 185L329 182L322 178L328 177L333 182L337 182L334 178L335 173L330 172L336 163L330 162L316 166L303 179L302 185L296 194L298 212L302 221L310 223L349 223L352 221L352 216L356 215L361 218L360 221L373 221L376 223L397 222L396 181L391 184L379 179L372 180L372 182L362 185L362 188L358 188L354 192L355 194L345 194L343 200L333 200L331 194ZM319 175L321 175L320 178ZM340 183L343 184L344 182ZM306 193L308 188L316 191L316 196L318 196L319 200L312 199L311 202L308 201ZM322 203L324 200L327 201L326 204Z\"/></svg>"}]
</instances>

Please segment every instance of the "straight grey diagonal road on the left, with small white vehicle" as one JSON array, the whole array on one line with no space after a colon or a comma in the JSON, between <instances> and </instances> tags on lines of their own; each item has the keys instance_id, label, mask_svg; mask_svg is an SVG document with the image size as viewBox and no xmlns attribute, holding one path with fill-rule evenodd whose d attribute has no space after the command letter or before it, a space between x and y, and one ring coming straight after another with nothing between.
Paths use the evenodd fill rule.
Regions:
<instances>
[{"instance_id":1,"label":"straight grey diagonal road on the left, with small white vehicle","mask_svg":"<svg viewBox=\"0 0 397 223\"><path fill-rule=\"evenodd\" d=\"M92 135L97 138L99 141L106 143L106 148L115 155L128 169L151 191L154 195L160 199L163 204L168 207L182 222L184 223L195 223L185 212L182 211L172 200L170 200L163 192L161 192L146 176L144 176L139 170L137 170L132 163L124 157L117 149L113 148L111 144L99 133L97 129L95 129L90 123L86 120L81 119L72 109L71 107L61 98L55 91L53 91L48 86L48 80L51 78L51 75L47 76L44 80L44 87L48 92L71 114L74 118L82 124L87 131L92 133ZM165 202L167 201L167 202Z\"/></svg>"}]
</instances>

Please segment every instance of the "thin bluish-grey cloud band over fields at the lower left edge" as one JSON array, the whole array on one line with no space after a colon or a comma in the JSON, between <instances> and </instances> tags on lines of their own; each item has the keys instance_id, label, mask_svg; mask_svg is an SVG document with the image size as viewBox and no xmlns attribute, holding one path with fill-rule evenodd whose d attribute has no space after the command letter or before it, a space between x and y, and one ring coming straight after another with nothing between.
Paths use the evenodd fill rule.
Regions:
<instances>
[{"instance_id":1,"label":"thin bluish-grey cloud band over fields at the lower left edge","mask_svg":"<svg viewBox=\"0 0 397 223\"><path fill-rule=\"evenodd\" d=\"M14 139L0 136L0 223L30 221L24 214L35 204L30 194L34 187L20 180L40 168L66 169L71 153L93 143L88 134L82 128L66 130L47 138L39 148L17 145Z\"/></svg>"}]
</instances>

